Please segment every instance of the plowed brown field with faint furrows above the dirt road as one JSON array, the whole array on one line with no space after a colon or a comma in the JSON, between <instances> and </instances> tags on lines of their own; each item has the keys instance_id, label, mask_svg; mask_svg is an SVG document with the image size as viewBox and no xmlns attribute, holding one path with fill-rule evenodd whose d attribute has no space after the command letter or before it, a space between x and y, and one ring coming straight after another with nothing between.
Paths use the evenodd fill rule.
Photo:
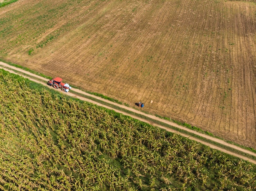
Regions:
<instances>
[{"instance_id":1,"label":"plowed brown field with faint furrows above the dirt road","mask_svg":"<svg viewBox=\"0 0 256 191\"><path fill-rule=\"evenodd\" d=\"M254 149L255 48L254 2L19 0L0 8L3 59Z\"/></svg>"}]
</instances>

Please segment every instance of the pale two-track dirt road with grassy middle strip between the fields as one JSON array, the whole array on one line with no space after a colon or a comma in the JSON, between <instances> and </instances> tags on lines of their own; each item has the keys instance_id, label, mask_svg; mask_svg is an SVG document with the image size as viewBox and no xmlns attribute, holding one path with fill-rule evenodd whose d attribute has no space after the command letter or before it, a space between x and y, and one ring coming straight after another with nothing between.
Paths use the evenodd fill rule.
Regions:
<instances>
[{"instance_id":1,"label":"pale two-track dirt road with grassy middle strip between the fields","mask_svg":"<svg viewBox=\"0 0 256 191\"><path fill-rule=\"evenodd\" d=\"M40 83L40 84L42 84L42 85L44 85L44 86L47 86L46 82L48 81L48 79L45 79L44 77L40 77L40 76L38 76L38 75L32 74L31 72L22 70L22 69L20 69L20 68L16 68L16 67L14 67L14 66L10 66L10 65L8 65L8 64L6 64L6 63L4 63L4 62L0 62L0 68L4 69L4 70L6 70L6 71L9 71L9 72L11 72L11 73L14 73L14 74L18 74L18 75L20 75L20 76L22 76L22 77L25 77L25 78L27 78L27 79L30 79L31 81L35 81L35 82L37 82L37 83ZM17 72L16 72L15 70L16 70ZM21 72L21 73L23 73L23 74L21 74L21 73L19 73L19 72ZM31 76L31 77L29 77L29 76ZM39 80L36 80L36 79L34 79L34 78L32 78L32 77L36 77L37 79L43 80L44 82L39 81ZM54 88L53 88L53 89L54 89ZM54 90L55 90L55 89L54 89ZM61 90L58 89L58 90L56 90L56 91L61 91ZM242 152L244 152L245 154L249 154L249 155L252 155L252 156L255 156L255 157L256 157L256 153L254 153L254 152L252 152L252 151L249 151L249 150L240 148L240 147L238 147L238 146L236 146L236 145L232 145L232 144L227 143L227 142L225 142L225 141L222 141L222 140L220 140L220 139L218 139L218 138L214 138L214 137L208 136L208 135L206 135L206 134L202 134L202 133L200 133L200 132L196 132L196 131L190 130L190 129L188 129L188 128L186 128L186 127L183 127L183 126L181 126L181 125L177 125L176 123L173 123L173 122L171 122L171 121L166 121L166 120L164 120L164 119L158 118L157 116L150 115L150 114L146 114L146 113L141 112L141 111L139 111L139 110L135 110L135 109L133 109L133 108L129 108L129 107L125 106L125 105L120 105L120 104L118 104L118 103L114 103L114 102L112 102L112 101L108 101L108 100L106 100L106 99L103 99L103 98L101 98L101 97L94 96L94 95L92 95L92 94L88 94L88 93L83 92L83 91L81 91L81 90L79 90L79 89L76 89L76 88L72 88L72 91L73 91L73 92L80 93L80 94L87 95L87 96L89 96L89 97L93 97L93 98L99 99L99 100L104 101L104 102L106 102L106 103L111 103L111 104L113 104L113 105L118 105L120 108L124 108L125 110L129 110L129 111L131 111L131 112L135 112L135 113L138 113L138 114L147 116L148 118L153 119L153 120L161 121L161 122L166 123L166 124L168 124L168 125L172 125L172 126L174 126L174 127L177 127L177 128L179 128L179 129L181 129L181 130L185 130L185 131L187 131L187 132L191 132L191 133L193 133L193 134L195 134L195 135L204 137L204 138L206 138L206 139L208 139L208 140L214 141L214 142L216 142L216 143L220 143L220 144L222 144L222 145L231 147L231 148L236 149L236 150L238 150L238 151L242 151ZM81 100L83 100L83 101L88 101L88 102L90 102L90 103L93 103L93 104L96 104L96 105L99 105L99 106L108 108L108 109L110 109L110 110L114 110L115 112L119 112L119 113L121 113L121 114L124 114L124 115L126 115L126 116L130 116L130 117L132 117L132 118L134 118L134 119L138 119L138 120L140 120L140 121L149 123L149 124L151 124L151 125L155 125L155 126L157 126L157 127L159 127L159 128L162 128L162 129L164 129L164 130L166 130L166 131L168 131L168 132L175 132L175 133L177 133L177 134L180 134L181 136L190 138L190 139L192 139L192 140L194 140L194 141L197 141L197 142L199 142L199 143L202 143L202 144L204 144L204 145L207 145L207 146L209 146L209 147L212 148L212 149L217 149L217 150L219 150L219 151L222 151L222 152L225 152L225 153L227 153L227 154L236 156L236 157L241 158L241 159L243 159L243 160L248 160L249 162L252 162L252 163L256 164L256 160L252 160L252 159L247 158L247 157L245 157L245 156L243 156L243 155L236 154L236 153L234 153L234 152L231 152L231 151L229 151L229 150L223 149L223 148L218 147L218 146L216 146L216 145L213 145L213 144L211 144L211 143L207 143L207 142L202 141L202 140L200 140L200 139L191 137L191 136L189 136L189 135L187 135L187 134L183 134L183 133L177 132L177 131L175 131L175 130L173 130L173 129L170 129L170 128L167 128L167 127L164 127L164 126L161 126L161 125L157 125L157 124L155 124L155 123L152 123L152 122L149 121L149 120L145 120L145 119L139 118L138 116L133 116L133 115L128 114L128 113L126 113L126 112L117 110L117 109L115 109L115 108L111 108L111 107L109 107L109 106L107 106L107 105L103 105L103 104L101 104L101 103L98 103L97 101L92 101L91 99L87 99L87 98L85 98L85 97L78 96L78 95L76 95L76 94L73 94L72 91L68 92L67 95L69 95L69 96L71 96L71 97L75 97L75 98L81 99ZM61 91L61 92L62 92L62 91ZM64 92L63 92L63 93L64 93ZM66 94L66 93L65 93L65 94Z\"/></svg>"}]
</instances>

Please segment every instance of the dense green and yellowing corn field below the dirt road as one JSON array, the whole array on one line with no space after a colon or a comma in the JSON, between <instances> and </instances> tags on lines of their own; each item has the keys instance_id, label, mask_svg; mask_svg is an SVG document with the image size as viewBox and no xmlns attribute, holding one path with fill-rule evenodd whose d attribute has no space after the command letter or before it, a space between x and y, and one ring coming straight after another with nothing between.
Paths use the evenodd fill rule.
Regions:
<instances>
[{"instance_id":1,"label":"dense green and yellowing corn field below the dirt road","mask_svg":"<svg viewBox=\"0 0 256 191\"><path fill-rule=\"evenodd\" d=\"M0 70L0 190L255 190L256 166Z\"/></svg>"}]
</instances>

